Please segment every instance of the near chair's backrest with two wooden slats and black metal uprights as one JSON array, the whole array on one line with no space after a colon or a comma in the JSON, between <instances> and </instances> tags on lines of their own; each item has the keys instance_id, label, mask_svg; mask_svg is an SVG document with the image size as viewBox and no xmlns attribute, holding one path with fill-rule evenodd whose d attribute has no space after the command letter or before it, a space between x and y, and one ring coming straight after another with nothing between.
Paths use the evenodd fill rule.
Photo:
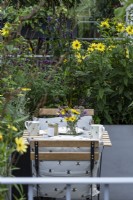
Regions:
<instances>
[{"instance_id":1,"label":"near chair's backrest with two wooden slats and black metal uprights","mask_svg":"<svg viewBox=\"0 0 133 200\"><path fill-rule=\"evenodd\" d=\"M47 147L51 147L52 151L46 151ZM75 151L75 148L78 151ZM83 148L86 150L84 151ZM90 171L92 171L95 161L99 160L98 140L40 140L36 138L30 139L30 149L30 159L35 160L37 171L39 161L90 161Z\"/></svg>"}]
</instances>

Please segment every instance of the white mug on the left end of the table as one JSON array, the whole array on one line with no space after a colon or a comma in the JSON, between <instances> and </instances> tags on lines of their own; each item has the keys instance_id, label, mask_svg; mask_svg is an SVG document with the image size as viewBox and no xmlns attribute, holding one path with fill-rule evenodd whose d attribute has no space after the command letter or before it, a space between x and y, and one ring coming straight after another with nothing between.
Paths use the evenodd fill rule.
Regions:
<instances>
[{"instance_id":1,"label":"white mug on the left end of the table","mask_svg":"<svg viewBox=\"0 0 133 200\"><path fill-rule=\"evenodd\" d=\"M38 135L39 126L39 121L25 121L25 127L27 128L29 135Z\"/></svg>"}]
</instances>

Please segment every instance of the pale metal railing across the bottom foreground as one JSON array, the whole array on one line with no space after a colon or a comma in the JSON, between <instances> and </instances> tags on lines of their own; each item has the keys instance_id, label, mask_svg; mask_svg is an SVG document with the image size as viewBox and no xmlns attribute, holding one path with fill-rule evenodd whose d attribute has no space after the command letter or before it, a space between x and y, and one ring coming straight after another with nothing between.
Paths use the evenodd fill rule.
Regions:
<instances>
[{"instance_id":1,"label":"pale metal railing across the bottom foreground","mask_svg":"<svg viewBox=\"0 0 133 200\"><path fill-rule=\"evenodd\" d=\"M28 200L33 200L33 185L36 184L66 184L66 200L71 200L72 184L101 184L104 186L103 199L109 200L110 184L133 184L133 177L0 177L0 184L26 184L28 185Z\"/></svg>"}]
</instances>

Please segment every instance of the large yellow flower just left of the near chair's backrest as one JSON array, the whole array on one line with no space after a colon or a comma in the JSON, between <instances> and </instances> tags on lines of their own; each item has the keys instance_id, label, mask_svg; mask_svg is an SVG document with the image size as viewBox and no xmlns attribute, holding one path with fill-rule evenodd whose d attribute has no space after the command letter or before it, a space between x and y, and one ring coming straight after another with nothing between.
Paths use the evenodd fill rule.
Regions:
<instances>
[{"instance_id":1,"label":"large yellow flower just left of the near chair's backrest","mask_svg":"<svg viewBox=\"0 0 133 200\"><path fill-rule=\"evenodd\" d=\"M27 145L25 144L25 141L24 141L23 137L15 138L15 142L16 142L16 145L17 145L16 150L19 153L23 154L24 152L26 152Z\"/></svg>"}]
</instances>

